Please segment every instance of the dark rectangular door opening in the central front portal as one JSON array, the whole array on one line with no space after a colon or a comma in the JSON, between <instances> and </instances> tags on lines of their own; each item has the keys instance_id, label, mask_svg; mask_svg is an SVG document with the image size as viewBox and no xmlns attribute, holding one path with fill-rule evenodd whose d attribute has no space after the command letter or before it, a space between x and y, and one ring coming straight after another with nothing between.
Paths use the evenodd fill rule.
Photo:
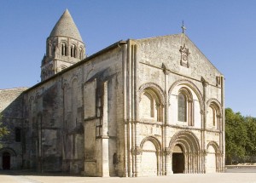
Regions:
<instances>
[{"instance_id":1,"label":"dark rectangular door opening in the central front portal","mask_svg":"<svg viewBox=\"0 0 256 183\"><path fill-rule=\"evenodd\" d=\"M184 173L184 155L183 152L172 153L172 171L173 174Z\"/></svg>"}]
</instances>

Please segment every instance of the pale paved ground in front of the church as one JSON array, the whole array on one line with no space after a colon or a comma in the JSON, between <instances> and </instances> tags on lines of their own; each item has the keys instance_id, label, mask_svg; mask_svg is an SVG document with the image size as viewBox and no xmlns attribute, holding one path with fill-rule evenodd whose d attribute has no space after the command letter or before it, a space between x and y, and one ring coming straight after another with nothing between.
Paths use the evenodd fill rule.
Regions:
<instances>
[{"instance_id":1,"label":"pale paved ground in front of the church","mask_svg":"<svg viewBox=\"0 0 256 183\"><path fill-rule=\"evenodd\" d=\"M19 171L0 171L2 183L256 183L256 168L228 169L229 173L218 174L172 174L162 177L79 177L61 174L33 174ZM231 173L232 172L232 173ZM237 172L237 173L234 173ZM243 172L243 173L238 173Z\"/></svg>"}]
</instances>

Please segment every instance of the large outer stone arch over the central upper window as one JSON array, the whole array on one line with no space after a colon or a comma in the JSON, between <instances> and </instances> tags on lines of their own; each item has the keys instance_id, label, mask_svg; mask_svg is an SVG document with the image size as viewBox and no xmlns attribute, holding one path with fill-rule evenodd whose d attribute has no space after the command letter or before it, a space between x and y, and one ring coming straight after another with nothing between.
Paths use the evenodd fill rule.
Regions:
<instances>
[{"instance_id":1,"label":"large outer stone arch over the central upper window","mask_svg":"<svg viewBox=\"0 0 256 183\"><path fill-rule=\"evenodd\" d=\"M169 96L168 99L170 100L170 96L172 94L172 90L176 86L181 85L181 84L188 86L189 89L192 89L195 92L195 94L196 94L196 96L197 96L197 98L199 100L201 110L203 110L203 97L202 97L201 91L197 88L195 83L192 83L192 82L190 82L187 79L178 80L177 82L172 84L171 88L168 91L168 96ZM169 105L170 105L170 101L168 101L168 102L169 102Z\"/></svg>"}]
</instances>

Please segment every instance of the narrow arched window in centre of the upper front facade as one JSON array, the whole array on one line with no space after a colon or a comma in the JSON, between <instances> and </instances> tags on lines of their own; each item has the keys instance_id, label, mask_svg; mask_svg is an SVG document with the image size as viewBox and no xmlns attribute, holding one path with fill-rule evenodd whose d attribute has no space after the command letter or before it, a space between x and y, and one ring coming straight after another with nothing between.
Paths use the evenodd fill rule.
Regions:
<instances>
[{"instance_id":1,"label":"narrow arched window in centre of the upper front facade","mask_svg":"<svg viewBox=\"0 0 256 183\"><path fill-rule=\"evenodd\" d=\"M178 94L177 99L177 120L180 122L187 121L187 99L182 93Z\"/></svg>"}]
</instances>

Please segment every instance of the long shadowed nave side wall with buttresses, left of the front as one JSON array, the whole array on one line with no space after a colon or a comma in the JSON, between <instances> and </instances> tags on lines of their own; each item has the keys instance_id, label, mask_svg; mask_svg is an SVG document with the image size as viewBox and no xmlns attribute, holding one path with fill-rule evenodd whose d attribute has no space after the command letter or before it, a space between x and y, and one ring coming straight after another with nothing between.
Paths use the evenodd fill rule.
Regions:
<instances>
[{"instance_id":1,"label":"long shadowed nave side wall with buttresses, left of the front","mask_svg":"<svg viewBox=\"0 0 256 183\"><path fill-rule=\"evenodd\" d=\"M40 83L26 92L26 168L102 176L103 143L108 145L108 172L118 169L118 119L122 113L122 52L113 49ZM103 85L107 83L103 106ZM104 112L105 110L105 112ZM107 125L102 125L107 117ZM108 138L102 133L106 131ZM122 134L122 133L121 133ZM107 142L103 142L107 141ZM114 158L114 160L113 160Z\"/></svg>"}]
</instances>

